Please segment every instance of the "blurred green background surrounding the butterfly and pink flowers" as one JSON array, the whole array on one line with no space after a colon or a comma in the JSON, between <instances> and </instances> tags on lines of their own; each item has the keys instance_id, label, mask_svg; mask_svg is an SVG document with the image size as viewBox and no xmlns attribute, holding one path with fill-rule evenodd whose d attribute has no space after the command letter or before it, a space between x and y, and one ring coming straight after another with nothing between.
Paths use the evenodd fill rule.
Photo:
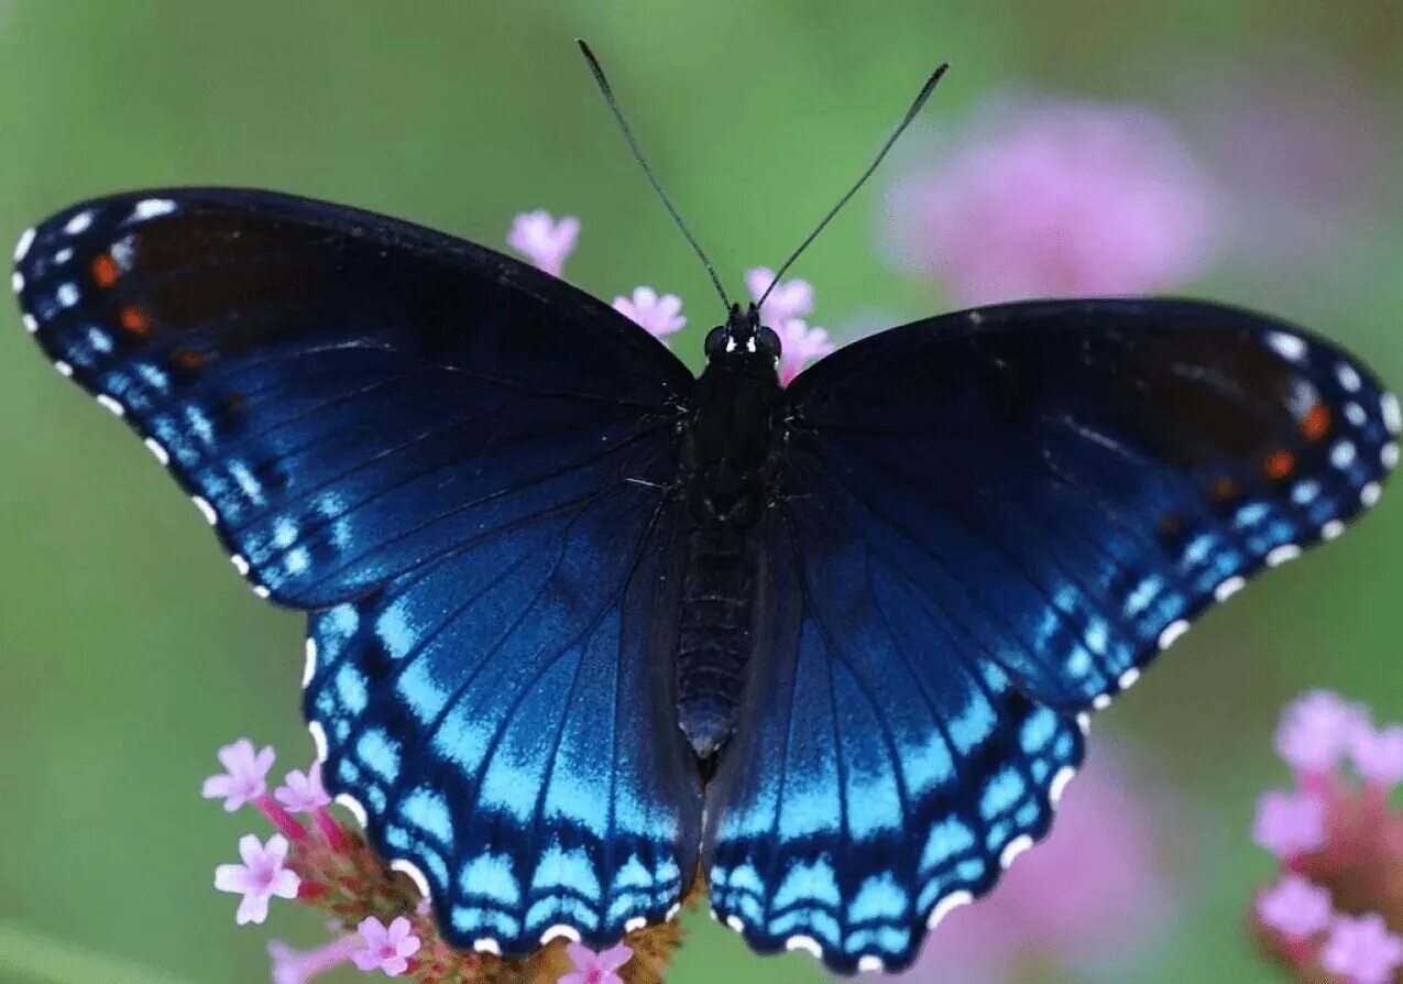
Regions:
<instances>
[{"instance_id":1,"label":"blurred green background surrounding the butterfly and pink flowers","mask_svg":"<svg viewBox=\"0 0 1403 984\"><path fill-rule=\"evenodd\" d=\"M492 246L513 212L544 206L584 222L568 267L584 288L612 298L651 284L687 299L692 323L673 347L692 354L720 312L629 160L575 35L610 69L658 173L737 291L744 268L773 265L808 230L939 60L954 70L926 111L933 133L1009 90L1131 101L1166 114L1211 168L1223 164L1214 154L1233 87L1260 67L1324 95L1341 118L1360 115L1368 160L1331 171L1322 194L1344 208L1323 244L1301 250L1251 230L1291 209L1317 225L1313 202L1282 194L1257 216L1260 188L1240 168L1225 178L1249 201L1236 216L1243 236L1194 292L1316 326L1397 386L1399 10L1369 0L1172 10L1163 0L7 0L0 236L83 197L187 182L352 202ZM818 289L821 324L873 310L906 320L946 303L880 255L878 205L880 190L859 198L798 270ZM236 900L212 890L210 872L262 824L202 802L199 783L215 748L240 734L275 744L279 766L304 766L300 619L248 594L140 444L10 320L0 333L0 978L267 980L269 936L311 945L325 931L290 904L275 905L268 926L236 929ZM1136 748L1183 824L1173 935L1118 980L1273 980L1242 932L1244 900L1271 870L1247 837L1257 790L1284 780L1271 727L1284 700L1315 685L1403 717L1396 500L1207 618L1099 724L1099 737ZM807 957L760 960L709 919L689 925L678 984L821 980Z\"/></svg>"}]
</instances>

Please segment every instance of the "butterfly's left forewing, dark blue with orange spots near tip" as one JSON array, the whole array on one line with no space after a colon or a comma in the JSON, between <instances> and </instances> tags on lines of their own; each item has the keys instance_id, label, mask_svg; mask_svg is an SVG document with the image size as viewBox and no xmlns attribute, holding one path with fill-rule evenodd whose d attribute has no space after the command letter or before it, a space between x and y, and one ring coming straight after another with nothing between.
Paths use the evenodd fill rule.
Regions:
<instances>
[{"instance_id":1,"label":"butterfly's left forewing, dark blue with orange spots near tip","mask_svg":"<svg viewBox=\"0 0 1403 984\"><path fill-rule=\"evenodd\" d=\"M490 250L341 206L185 190L21 240L25 326L122 414L260 594L333 604L512 515L692 379L641 328Z\"/></svg>"}]
</instances>

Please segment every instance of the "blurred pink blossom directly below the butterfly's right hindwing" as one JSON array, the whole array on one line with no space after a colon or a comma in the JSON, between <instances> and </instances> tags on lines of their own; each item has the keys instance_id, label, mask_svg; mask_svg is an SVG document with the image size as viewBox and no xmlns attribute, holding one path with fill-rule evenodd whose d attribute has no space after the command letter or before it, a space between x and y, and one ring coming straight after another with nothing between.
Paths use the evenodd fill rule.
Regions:
<instances>
[{"instance_id":1,"label":"blurred pink blossom directly below the butterfly's right hindwing","mask_svg":"<svg viewBox=\"0 0 1403 984\"><path fill-rule=\"evenodd\" d=\"M1066 787L1048 838L986 898L951 912L902 977L996 984L1030 960L1087 971L1143 953L1173 910L1160 814L1124 765L1099 752Z\"/></svg>"}]
</instances>

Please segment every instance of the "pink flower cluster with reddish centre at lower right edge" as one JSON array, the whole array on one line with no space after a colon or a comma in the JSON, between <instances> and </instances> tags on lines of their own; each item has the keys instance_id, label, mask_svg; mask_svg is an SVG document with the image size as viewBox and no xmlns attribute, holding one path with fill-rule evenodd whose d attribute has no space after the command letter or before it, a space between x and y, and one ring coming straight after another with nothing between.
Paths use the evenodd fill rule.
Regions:
<instances>
[{"instance_id":1,"label":"pink flower cluster with reddish centre at lower right edge","mask_svg":"<svg viewBox=\"0 0 1403 984\"><path fill-rule=\"evenodd\" d=\"M1253 839L1281 862L1253 910L1263 948L1301 981L1403 984L1403 726L1316 691L1275 748L1294 783L1257 800Z\"/></svg>"}]
</instances>

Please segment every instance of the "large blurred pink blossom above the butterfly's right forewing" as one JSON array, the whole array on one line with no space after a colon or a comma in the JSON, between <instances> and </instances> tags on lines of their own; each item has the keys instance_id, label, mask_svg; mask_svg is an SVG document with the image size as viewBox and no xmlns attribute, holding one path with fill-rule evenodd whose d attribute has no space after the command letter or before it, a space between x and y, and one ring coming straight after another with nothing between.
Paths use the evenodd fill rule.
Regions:
<instances>
[{"instance_id":1,"label":"large blurred pink blossom above the butterfly's right forewing","mask_svg":"<svg viewBox=\"0 0 1403 984\"><path fill-rule=\"evenodd\" d=\"M888 194L888 250L961 303L1163 291L1221 230L1200 167L1149 111L1045 101L985 112L939 170Z\"/></svg>"}]
</instances>

